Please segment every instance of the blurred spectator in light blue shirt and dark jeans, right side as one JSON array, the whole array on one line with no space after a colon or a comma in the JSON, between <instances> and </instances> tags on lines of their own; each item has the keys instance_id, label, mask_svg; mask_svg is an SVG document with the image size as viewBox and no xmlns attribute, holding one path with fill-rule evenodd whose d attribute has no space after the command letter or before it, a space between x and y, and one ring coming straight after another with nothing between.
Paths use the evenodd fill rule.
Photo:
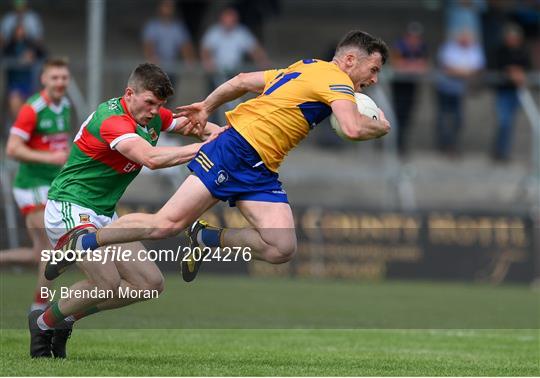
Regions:
<instances>
[{"instance_id":1,"label":"blurred spectator in light blue shirt and dark jeans, right side","mask_svg":"<svg viewBox=\"0 0 540 378\"><path fill-rule=\"evenodd\" d=\"M463 124L462 102L467 80L484 68L485 59L474 34L463 29L441 46L438 61L436 143L441 151L454 155Z\"/></svg>"}]
</instances>

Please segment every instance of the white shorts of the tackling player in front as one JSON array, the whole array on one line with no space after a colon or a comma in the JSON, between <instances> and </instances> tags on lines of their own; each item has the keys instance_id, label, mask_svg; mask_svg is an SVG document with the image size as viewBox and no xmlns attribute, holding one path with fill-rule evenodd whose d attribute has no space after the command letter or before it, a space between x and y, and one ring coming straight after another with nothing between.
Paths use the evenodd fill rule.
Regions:
<instances>
[{"instance_id":1,"label":"white shorts of the tackling player in front","mask_svg":"<svg viewBox=\"0 0 540 378\"><path fill-rule=\"evenodd\" d=\"M116 213L112 217L97 215L94 210L71 202L48 200L45 206L45 229L54 247L62 236L75 227L103 228L116 219L118 219Z\"/></svg>"}]
</instances>

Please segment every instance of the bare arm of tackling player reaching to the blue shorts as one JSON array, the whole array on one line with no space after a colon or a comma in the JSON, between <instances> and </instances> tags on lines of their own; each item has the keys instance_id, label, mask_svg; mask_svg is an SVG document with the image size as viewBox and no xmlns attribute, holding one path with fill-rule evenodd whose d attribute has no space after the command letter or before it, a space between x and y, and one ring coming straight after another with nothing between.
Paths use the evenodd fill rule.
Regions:
<instances>
[{"instance_id":1,"label":"bare arm of tackling player reaching to the blue shorts","mask_svg":"<svg viewBox=\"0 0 540 378\"><path fill-rule=\"evenodd\" d=\"M142 138L124 139L115 149L129 160L149 169L172 167L187 163L195 157L204 143L193 143L181 147L153 147Z\"/></svg>"}]
</instances>

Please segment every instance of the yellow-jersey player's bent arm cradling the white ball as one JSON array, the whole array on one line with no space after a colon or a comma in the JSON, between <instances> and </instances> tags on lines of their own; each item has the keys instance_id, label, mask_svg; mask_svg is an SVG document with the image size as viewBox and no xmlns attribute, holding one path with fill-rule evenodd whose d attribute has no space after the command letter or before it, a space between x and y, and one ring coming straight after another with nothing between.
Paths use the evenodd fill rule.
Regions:
<instances>
[{"instance_id":1,"label":"yellow-jersey player's bent arm cradling the white ball","mask_svg":"<svg viewBox=\"0 0 540 378\"><path fill-rule=\"evenodd\" d=\"M356 104L347 100L336 100L331 104L341 130L353 140L380 138L390 131L390 123L381 111L380 119L371 119L358 112Z\"/></svg>"}]
</instances>

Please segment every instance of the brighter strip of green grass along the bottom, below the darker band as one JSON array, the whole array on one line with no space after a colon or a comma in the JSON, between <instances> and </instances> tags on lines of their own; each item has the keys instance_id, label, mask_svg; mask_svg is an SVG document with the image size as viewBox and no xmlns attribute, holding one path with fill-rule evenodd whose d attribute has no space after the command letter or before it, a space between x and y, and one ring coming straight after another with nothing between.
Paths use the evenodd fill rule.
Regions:
<instances>
[{"instance_id":1,"label":"brighter strip of green grass along the bottom, below the darker band","mask_svg":"<svg viewBox=\"0 0 540 378\"><path fill-rule=\"evenodd\" d=\"M1 375L537 376L537 331L81 330L65 361L2 334Z\"/></svg>"}]
</instances>

